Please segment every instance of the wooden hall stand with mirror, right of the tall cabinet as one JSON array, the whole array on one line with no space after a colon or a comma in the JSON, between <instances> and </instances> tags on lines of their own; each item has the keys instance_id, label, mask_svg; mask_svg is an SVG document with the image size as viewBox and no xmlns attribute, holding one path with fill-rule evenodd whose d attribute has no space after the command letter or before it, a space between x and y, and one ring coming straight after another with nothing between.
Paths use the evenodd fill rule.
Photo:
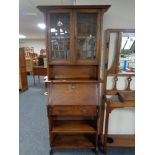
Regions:
<instances>
[{"instance_id":1,"label":"wooden hall stand with mirror, right of the tall cabinet","mask_svg":"<svg viewBox=\"0 0 155 155\"><path fill-rule=\"evenodd\" d=\"M105 124L105 131L102 137L104 152L107 151L108 147L134 147L135 145L134 135L108 135L109 114L112 110L135 107L134 90L131 90L131 81L135 76L134 70L131 69L134 68L135 61L134 44L135 40L133 29L108 29L106 31L106 53L101 118L102 127ZM124 64L121 64L122 59L125 63L130 63L130 65L123 66ZM107 89L107 79L109 77L113 80L113 86L110 90ZM126 87L124 90L118 89L118 81L120 77L125 78L126 80ZM123 82L121 83L123 84ZM103 128L101 130L101 135L102 134Z\"/></svg>"}]
</instances>

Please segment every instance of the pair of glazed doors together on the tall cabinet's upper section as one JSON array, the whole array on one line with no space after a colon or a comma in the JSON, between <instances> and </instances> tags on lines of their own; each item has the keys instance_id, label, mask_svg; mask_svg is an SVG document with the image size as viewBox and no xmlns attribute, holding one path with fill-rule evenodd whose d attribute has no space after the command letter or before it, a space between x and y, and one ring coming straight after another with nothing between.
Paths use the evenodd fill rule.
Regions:
<instances>
[{"instance_id":1,"label":"pair of glazed doors together on the tall cabinet's upper section","mask_svg":"<svg viewBox=\"0 0 155 155\"><path fill-rule=\"evenodd\" d=\"M52 11L47 23L49 64L98 65L100 10Z\"/></svg>"}]
</instances>

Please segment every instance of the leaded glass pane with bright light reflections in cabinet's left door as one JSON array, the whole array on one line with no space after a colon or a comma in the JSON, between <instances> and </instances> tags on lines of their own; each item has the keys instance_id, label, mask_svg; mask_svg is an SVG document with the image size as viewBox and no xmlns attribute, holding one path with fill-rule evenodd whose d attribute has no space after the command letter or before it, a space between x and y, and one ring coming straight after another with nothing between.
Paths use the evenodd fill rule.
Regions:
<instances>
[{"instance_id":1,"label":"leaded glass pane with bright light reflections in cabinet's left door","mask_svg":"<svg viewBox=\"0 0 155 155\"><path fill-rule=\"evenodd\" d=\"M51 58L52 60L70 59L70 14L51 13Z\"/></svg>"}]
</instances>

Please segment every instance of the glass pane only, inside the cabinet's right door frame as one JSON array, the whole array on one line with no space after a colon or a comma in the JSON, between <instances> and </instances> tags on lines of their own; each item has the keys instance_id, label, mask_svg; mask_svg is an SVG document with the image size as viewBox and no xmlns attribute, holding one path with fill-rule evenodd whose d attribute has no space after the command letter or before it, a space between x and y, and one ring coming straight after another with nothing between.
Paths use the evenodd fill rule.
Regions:
<instances>
[{"instance_id":1,"label":"glass pane only, inside the cabinet's right door frame","mask_svg":"<svg viewBox=\"0 0 155 155\"><path fill-rule=\"evenodd\" d=\"M77 14L77 58L96 59L97 14Z\"/></svg>"}]
</instances>

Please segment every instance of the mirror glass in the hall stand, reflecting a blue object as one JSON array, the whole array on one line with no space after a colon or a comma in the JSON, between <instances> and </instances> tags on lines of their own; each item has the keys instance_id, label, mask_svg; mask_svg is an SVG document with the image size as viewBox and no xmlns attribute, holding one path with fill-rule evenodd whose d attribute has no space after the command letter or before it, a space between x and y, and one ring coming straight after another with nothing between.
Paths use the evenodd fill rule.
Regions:
<instances>
[{"instance_id":1,"label":"mirror glass in the hall stand, reflecting a blue object","mask_svg":"<svg viewBox=\"0 0 155 155\"><path fill-rule=\"evenodd\" d=\"M135 71L135 34L122 33L119 72Z\"/></svg>"}]
</instances>

